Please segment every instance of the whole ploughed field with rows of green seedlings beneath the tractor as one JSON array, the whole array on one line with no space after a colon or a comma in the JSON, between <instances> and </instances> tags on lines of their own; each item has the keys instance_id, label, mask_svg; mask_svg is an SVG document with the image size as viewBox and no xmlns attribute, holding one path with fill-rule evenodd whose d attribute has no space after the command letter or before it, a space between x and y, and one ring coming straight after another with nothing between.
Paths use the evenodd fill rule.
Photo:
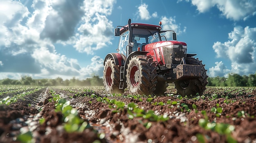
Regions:
<instances>
[{"instance_id":1,"label":"whole ploughed field with rows of green seedlings beneath the tractor","mask_svg":"<svg viewBox=\"0 0 256 143\"><path fill-rule=\"evenodd\" d=\"M256 143L256 88L193 99L103 87L0 86L1 143Z\"/></svg>"}]
</instances>

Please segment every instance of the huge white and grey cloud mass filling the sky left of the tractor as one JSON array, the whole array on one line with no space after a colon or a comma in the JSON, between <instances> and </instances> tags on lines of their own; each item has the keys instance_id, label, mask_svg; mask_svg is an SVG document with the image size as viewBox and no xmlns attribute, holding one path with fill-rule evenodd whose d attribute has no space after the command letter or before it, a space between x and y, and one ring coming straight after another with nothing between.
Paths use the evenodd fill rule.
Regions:
<instances>
[{"instance_id":1,"label":"huge white and grey cloud mass filling the sky left of the tractor","mask_svg":"<svg viewBox=\"0 0 256 143\"><path fill-rule=\"evenodd\" d=\"M1 0L0 79L102 76L100 57L94 56L92 64L81 67L77 59L55 50L58 43L93 53L112 44L112 22L106 16L115 0L85 1L34 0L30 13L20 1ZM95 38L97 41L92 40Z\"/></svg>"}]
</instances>

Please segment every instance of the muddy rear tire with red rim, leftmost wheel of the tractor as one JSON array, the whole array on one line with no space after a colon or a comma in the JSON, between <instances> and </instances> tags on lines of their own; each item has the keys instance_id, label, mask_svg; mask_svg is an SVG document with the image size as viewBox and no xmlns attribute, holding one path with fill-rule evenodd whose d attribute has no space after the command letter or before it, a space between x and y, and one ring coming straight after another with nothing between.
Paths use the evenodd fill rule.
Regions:
<instances>
[{"instance_id":1,"label":"muddy rear tire with red rim, leftmost wheel of the tractor","mask_svg":"<svg viewBox=\"0 0 256 143\"><path fill-rule=\"evenodd\" d=\"M124 93L124 89L119 89L120 68L115 65L114 60L108 58L103 70L103 84L107 93Z\"/></svg>"}]
</instances>

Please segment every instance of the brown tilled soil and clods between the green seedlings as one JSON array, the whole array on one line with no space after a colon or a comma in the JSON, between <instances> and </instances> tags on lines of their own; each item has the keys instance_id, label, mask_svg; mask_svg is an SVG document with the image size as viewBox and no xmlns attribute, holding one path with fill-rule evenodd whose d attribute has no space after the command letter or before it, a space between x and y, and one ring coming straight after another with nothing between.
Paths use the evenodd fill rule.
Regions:
<instances>
[{"instance_id":1,"label":"brown tilled soil and clods between the green seedlings","mask_svg":"<svg viewBox=\"0 0 256 143\"><path fill-rule=\"evenodd\" d=\"M200 135L206 143L256 143L256 88L231 90L208 87L204 92L205 98L180 100L177 99L176 90L168 87L166 96L155 96L150 102L147 101L148 97L135 98L129 96L127 91L124 95L110 96L105 94L103 88L80 88L43 88L9 106L0 105L0 143L18 143L18 135L26 130L31 132L32 141L36 143L198 143ZM52 98L50 89L61 98L70 100L70 105L77 108L81 119L90 123L91 127L83 132L66 132L63 129L63 114L54 111L56 102L48 101ZM165 115L169 119L129 119L127 106L114 112L116 108L98 101L95 96L122 101L126 105L133 102L146 112L153 110L155 114ZM168 100L186 103L190 111L166 104ZM161 101L165 104L154 104ZM193 109L193 104L196 109ZM213 107L221 107L222 112L216 115L211 112ZM202 111L206 111L206 115ZM241 111L244 114L239 116ZM235 129L230 134L207 130L198 124L199 119L205 118L209 123L226 123ZM45 122L40 124L39 119L45 119Z\"/></svg>"}]
</instances>

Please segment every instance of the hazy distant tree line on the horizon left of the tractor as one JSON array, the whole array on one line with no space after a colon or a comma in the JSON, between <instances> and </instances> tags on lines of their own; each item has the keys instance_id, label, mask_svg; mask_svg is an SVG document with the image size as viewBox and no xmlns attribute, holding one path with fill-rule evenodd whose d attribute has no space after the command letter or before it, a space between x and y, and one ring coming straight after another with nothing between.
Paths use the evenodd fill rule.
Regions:
<instances>
[{"instance_id":1,"label":"hazy distant tree line on the horizon left of the tractor","mask_svg":"<svg viewBox=\"0 0 256 143\"><path fill-rule=\"evenodd\" d=\"M61 77L56 79L32 79L29 76L23 76L21 79L1 79L2 85L35 85L35 86L103 86L103 79L99 76L92 76L84 80L73 77L63 80Z\"/></svg>"}]
</instances>

